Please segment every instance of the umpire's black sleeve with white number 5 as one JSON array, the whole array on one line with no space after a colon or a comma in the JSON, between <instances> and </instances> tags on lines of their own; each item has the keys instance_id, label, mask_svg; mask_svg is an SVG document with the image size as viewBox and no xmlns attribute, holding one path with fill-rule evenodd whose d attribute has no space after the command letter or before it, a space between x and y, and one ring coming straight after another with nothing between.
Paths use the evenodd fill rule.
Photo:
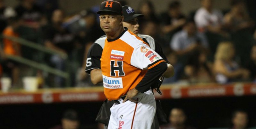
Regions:
<instances>
[{"instance_id":1,"label":"umpire's black sleeve with white number 5","mask_svg":"<svg viewBox=\"0 0 256 129\"><path fill-rule=\"evenodd\" d=\"M90 74L93 69L100 69L100 58L102 54L102 47L98 43L93 43L89 49L86 60L85 72Z\"/></svg>"}]
</instances>

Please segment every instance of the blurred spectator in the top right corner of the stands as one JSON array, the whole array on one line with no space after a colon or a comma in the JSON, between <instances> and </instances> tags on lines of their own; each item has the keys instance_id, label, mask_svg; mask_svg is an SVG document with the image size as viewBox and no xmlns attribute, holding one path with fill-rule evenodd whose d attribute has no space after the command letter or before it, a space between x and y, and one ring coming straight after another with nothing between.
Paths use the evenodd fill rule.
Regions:
<instances>
[{"instance_id":1,"label":"blurred spectator in the top right corner of the stands","mask_svg":"<svg viewBox=\"0 0 256 129\"><path fill-rule=\"evenodd\" d=\"M254 22L250 19L243 0L231 1L231 10L225 15L224 22L229 31L238 31L254 26Z\"/></svg>"}]
</instances>

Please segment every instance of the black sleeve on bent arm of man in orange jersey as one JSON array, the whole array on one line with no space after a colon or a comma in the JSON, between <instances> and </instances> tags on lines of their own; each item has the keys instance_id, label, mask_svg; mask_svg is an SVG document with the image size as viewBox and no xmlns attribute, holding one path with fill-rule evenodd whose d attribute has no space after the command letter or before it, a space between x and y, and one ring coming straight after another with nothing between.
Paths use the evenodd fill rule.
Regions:
<instances>
[{"instance_id":1,"label":"black sleeve on bent arm of man in orange jersey","mask_svg":"<svg viewBox=\"0 0 256 129\"><path fill-rule=\"evenodd\" d=\"M148 65L148 67L156 64L161 60L154 62L153 64ZM145 74L144 78L139 82L139 84L135 87L140 93L144 93L150 89L152 85L155 84L156 79L161 77L163 73L166 71L167 65L166 62L161 62L155 67L149 69Z\"/></svg>"}]
</instances>

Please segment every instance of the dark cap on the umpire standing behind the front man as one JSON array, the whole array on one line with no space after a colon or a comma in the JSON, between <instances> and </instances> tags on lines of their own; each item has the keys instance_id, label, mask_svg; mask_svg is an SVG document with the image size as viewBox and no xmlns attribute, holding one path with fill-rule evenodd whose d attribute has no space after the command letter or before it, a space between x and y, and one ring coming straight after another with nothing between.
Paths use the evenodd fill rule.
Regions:
<instances>
[{"instance_id":1,"label":"dark cap on the umpire standing behind the front man","mask_svg":"<svg viewBox=\"0 0 256 129\"><path fill-rule=\"evenodd\" d=\"M125 5L122 7L123 15L124 15L124 21L130 21L137 17L143 17L143 14L136 14L134 9L128 5Z\"/></svg>"}]
</instances>

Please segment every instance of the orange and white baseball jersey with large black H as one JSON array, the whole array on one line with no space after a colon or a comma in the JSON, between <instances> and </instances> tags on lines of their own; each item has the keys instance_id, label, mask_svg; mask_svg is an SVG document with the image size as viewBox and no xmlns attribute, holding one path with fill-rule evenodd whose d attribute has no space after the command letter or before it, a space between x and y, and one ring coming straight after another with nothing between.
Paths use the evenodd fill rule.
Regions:
<instances>
[{"instance_id":1,"label":"orange and white baseball jersey with large black H","mask_svg":"<svg viewBox=\"0 0 256 129\"><path fill-rule=\"evenodd\" d=\"M108 100L117 100L133 89L145 76L148 65L162 59L140 37L129 30L113 40L105 40L101 70L104 93Z\"/></svg>"}]
</instances>

